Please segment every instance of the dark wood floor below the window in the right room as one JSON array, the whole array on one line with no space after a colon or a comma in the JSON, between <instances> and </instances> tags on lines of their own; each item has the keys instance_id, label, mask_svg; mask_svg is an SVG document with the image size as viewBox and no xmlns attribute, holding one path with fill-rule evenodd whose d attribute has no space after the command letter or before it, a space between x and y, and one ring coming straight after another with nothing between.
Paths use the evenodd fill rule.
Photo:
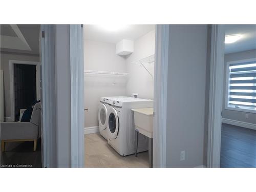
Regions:
<instances>
[{"instance_id":1,"label":"dark wood floor below the window in the right room","mask_svg":"<svg viewBox=\"0 0 256 192\"><path fill-rule=\"evenodd\" d=\"M221 167L256 167L256 130L222 124Z\"/></svg>"}]
</instances>

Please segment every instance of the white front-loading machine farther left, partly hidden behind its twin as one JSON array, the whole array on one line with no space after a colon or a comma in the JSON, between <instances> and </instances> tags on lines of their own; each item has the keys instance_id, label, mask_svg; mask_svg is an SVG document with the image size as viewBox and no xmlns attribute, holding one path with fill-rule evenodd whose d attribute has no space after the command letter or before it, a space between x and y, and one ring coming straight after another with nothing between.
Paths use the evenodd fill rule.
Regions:
<instances>
[{"instance_id":1,"label":"white front-loading machine farther left, partly hidden behind its twin","mask_svg":"<svg viewBox=\"0 0 256 192\"><path fill-rule=\"evenodd\" d=\"M109 99L117 98L130 98L125 96L116 96L116 97L101 97L99 100L99 111L98 111L98 120L99 120L99 134L108 140L108 132L106 130L106 115L109 108Z\"/></svg>"}]
</instances>

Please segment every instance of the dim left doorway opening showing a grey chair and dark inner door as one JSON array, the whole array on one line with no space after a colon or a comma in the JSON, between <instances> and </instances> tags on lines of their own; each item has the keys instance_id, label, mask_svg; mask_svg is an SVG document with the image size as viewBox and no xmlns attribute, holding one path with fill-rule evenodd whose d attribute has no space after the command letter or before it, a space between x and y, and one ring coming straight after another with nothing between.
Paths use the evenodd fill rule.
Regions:
<instances>
[{"instance_id":1,"label":"dim left doorway opening showing a grey chair and dark inner door","mask_svg":"<svg viewBox=\"0 0 256 192\"><path fill-rule=\"evenodd\" d=\"M39 34L40 25L1 25L1 164L6 167L41 167Z\"/></svg>"}]
</instances>

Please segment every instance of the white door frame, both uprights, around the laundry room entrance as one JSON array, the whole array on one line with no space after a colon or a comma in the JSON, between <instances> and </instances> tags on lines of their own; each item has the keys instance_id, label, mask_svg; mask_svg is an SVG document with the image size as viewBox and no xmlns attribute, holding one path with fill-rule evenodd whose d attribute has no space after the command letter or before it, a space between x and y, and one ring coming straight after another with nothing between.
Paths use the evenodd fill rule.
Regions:
<instances>
[{"instance_id":1,"label":"white door frame, both uprights, around the laundry room entrance","mask_svg":"<svg viewBox=\"0 0 256 192\"><path fill-rule=\"evenodd\" d=\"M73 42L74 41L74 42ZM70 25L71 58L71 167L84 166L83 142L83 35L79 25ZM80 50L77 50L77 47ZM82 51L82 52L81 52ZM154 70L154 142L153 167L166 167L167 76L169 54L169 25L156 25ZM76 95L73 93L76 93ZM80 114L77 114L77 113ZM76 116L74 116L76 114ZM82 114L82 115L81 115ZM75 119L76 118L76 121Z\"/></svg>"}]
</instances>

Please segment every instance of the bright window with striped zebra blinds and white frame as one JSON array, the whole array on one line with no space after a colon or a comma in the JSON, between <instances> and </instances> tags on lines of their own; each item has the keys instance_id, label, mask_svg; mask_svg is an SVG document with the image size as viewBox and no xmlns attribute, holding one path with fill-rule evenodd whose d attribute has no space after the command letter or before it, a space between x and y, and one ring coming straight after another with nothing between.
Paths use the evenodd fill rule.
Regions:
<instances>
[{"instance_id":1,"label":"bright window with striped zebra blinds and white frame","mask_svg":"<svg viewBox=\"0 0 256 192\"><path fill-rule=\"evenodd\" d=\"M227 84L227 109L256 113L256 58L227 62Z\"/></svg>"}]
</instances>

